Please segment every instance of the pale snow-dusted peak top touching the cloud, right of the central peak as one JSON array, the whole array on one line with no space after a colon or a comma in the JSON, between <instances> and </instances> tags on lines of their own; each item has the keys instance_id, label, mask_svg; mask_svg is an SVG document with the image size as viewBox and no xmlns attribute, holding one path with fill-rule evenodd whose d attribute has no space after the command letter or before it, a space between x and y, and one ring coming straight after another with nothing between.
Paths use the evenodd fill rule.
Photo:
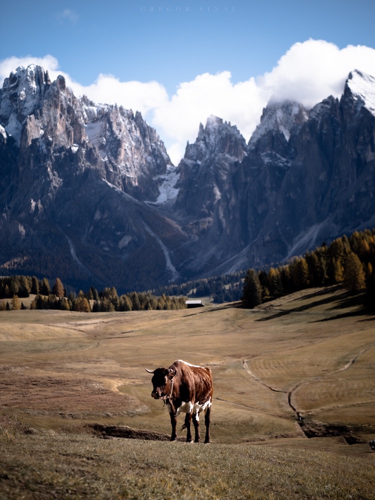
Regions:
<instances>
[{"instance_id":1,"label":"pale snow-dusted peak top touching the cloud, right of the central peak","mask_svg":"<svg viewBox=\"0 0 375 500\"><path fill-rule=\"evenodd\" d=\"M250 137L249 147L251 148L267 133L281 132L288 141L290 135L298 131L307 119L308 110L299 102L271 100L263 108L260 123Z\"/></svg>"}]
</instances>

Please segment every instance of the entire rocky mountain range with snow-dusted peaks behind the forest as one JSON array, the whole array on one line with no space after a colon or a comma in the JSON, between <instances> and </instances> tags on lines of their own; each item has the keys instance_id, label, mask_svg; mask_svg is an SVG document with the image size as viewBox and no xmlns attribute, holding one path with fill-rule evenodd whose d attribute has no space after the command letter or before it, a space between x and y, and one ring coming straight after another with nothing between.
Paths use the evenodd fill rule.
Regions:
<instances>
[{"instance_id":1,"label":"entire rocky mountain range with snow-dusted peaks behind the forest","mask_svg":"<svg viewBox=\"0 0 375 500\"><path fill-rule=\"evenodd\" d=\"M265 267L375 225L375 78L271 100L246 143L209 116L174 166L139 112L40 66L0 90L0 272L144 290Z\"/></svg>"}]
</instances>

